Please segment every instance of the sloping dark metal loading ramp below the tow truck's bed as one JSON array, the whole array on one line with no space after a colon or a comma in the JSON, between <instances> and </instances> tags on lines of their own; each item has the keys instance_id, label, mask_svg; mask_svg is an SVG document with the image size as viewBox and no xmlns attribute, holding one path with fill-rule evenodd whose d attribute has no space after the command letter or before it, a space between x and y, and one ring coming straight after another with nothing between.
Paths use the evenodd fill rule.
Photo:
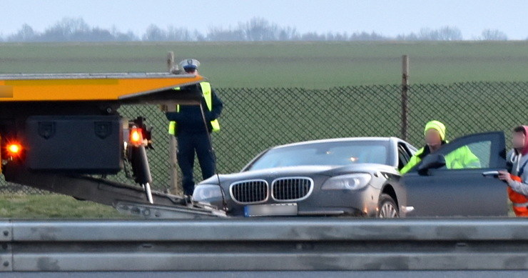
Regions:
<instances>
[{"instance_id":1,"label":"sloping dark metal loading ramp below the tow truck's bed","mask_svg":"<svg viewBox=\"0 0 528 278\"><path fill-rule=\"evenodd\" d=\"M6 179L37 189L90 200L115 207L123 214L146 219L196 219L226 217L223 210L208 204L191 202L180 196L152 191L153 203L138 186L88 176L68 176L47 172L31 172L14 164Z\"/></svg>"}]
</instances>

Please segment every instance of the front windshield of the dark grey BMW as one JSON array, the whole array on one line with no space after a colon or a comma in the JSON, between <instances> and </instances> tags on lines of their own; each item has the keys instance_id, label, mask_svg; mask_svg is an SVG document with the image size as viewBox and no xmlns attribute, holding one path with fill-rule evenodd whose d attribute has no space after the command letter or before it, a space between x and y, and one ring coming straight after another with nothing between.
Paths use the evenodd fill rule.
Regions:
<instances>
[{"instance_id":1,"label":"front windshield of the dark grey BMW","mask_svg":"<svg viewBox=\"0 0 528 278\"><path fill-rule=\"evenodd\" d=\"M389 164L387 149L388 142L380 140L300 144L270 149L247 170L305 165Z\"/></svg>"}]
</instances>

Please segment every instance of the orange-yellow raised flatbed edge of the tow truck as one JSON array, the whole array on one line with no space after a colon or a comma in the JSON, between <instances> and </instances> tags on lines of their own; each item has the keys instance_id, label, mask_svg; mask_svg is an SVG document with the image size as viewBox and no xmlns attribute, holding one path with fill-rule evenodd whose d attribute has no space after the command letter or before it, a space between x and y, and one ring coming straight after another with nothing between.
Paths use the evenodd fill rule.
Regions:
<instances>
[{"instance_id":1,"label":"orange-yellow raised flatbed edge of the tow truck","mask_svg":"<svg viewBox=\"0 0 528 278\"><path fill-rule=\"evenodd\" d=\"M203 81L199 75L0 74L0 102L119 101ZM177 100L175 94L173 100Z\"/></svg>"}]
</instances>

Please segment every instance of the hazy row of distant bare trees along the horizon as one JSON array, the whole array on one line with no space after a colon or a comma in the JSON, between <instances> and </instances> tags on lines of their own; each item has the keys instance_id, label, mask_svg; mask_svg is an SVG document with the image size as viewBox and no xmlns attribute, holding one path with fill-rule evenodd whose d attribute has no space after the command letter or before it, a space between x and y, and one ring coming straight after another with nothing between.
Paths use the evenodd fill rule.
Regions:
<instances>
[{"instance_id":1,"label":"hazy row of distant bare trees along the horizon","mask_svg":"<svg viewBox=\"0 0 528 278\"><path fill-rule=\"evenodd\" d=\"M506 41L504 32L485 29L474 40ZM462 32L457 27L445 26L440 29L421 29L417 33L384 36L374 31L366 32L305 32L294 27L279 26L255 17L241 22L234 28L212 27L207 32L190 31L185 28L168 26L165 29L151 24L144 34L138 36L132 31L122 32L115 27L102 29L89 26L82 18L64 18L44 31L35 31L28 24L14 34L0 36L6 42L47 42L47 41L461 41ZM528 40L528 38L527 38Z\"/></svg>"}]
</instances>

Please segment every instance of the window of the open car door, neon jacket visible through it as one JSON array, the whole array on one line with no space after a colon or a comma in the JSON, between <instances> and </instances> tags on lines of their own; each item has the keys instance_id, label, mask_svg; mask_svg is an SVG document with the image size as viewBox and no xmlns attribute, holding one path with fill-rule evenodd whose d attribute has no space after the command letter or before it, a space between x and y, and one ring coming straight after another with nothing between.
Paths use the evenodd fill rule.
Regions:
<instances>
[{"instance_id":1,"label":"window of the open car door, neon jacket visible through it","mask_svg":"<svg viewBox=\"0 0 528 278\"><path fill-rule=\"evenodd\" d=\"M492 142L474 142L445 154L444 169L489 168Z\"/></svg>"}]
</instances>

